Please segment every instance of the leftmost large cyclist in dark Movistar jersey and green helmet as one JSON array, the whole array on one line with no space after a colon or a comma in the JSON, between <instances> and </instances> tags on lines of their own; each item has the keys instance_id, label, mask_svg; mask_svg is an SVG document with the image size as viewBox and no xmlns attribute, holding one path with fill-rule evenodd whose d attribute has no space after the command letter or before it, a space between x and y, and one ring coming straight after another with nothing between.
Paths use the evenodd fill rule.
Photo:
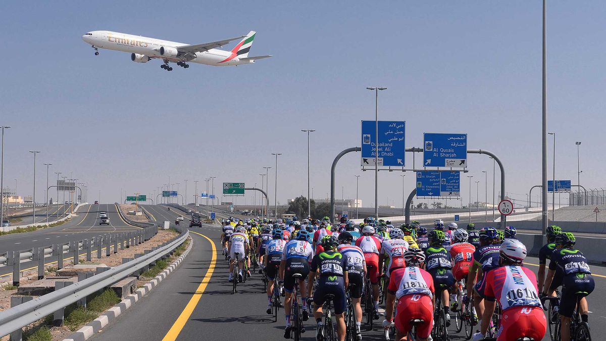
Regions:
<instances>
[{"instance_id":1,"label":"leftmost large cyclist in dark Movistar jersey and green helmet","mask_svg":"<svg viewBox=\"0 0 606 341\"><path fill-rule=\"evenodd\" d=\"M322 238L324 251L313 257L310 266L310 280L307 281L307 292L311 292L316 272L319 273L318 287L313 293L313 317L316 318L316 340L324 340L322 323L322 305L326 301L326 295L334 295L333 308L337 325L339 341L345 340L345 288L349 285L347 278L347 257L344 257L337 246L339 240L334 235L325 235Z\"/></svg>"}]
</instances>

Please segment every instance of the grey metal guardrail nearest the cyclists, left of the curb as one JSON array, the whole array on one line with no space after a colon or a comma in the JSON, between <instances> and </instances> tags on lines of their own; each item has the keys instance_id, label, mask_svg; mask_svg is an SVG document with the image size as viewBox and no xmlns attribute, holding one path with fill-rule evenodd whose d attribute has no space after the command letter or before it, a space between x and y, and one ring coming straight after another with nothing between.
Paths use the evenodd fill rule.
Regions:
<instances>
[{"instance_id":1,"label":"grey metal guardrail nearest the cyclists, left of the curb","mask_svg":"<svg viewBox=\"0 0 606 341\"><path fill-rule=\"evenodd\" d=\"M96 274L88 279L81 280L65 288L58 289L50 294L42 295L36 299L22 303L21 305L0 312L0 336L6 336L17 331L30 323L36 322L43 317L53 314L55 311L65 308L72 303L85 299L88 295L106 288L113 283L122 280L133 272L139 271L150 263L164 257L188 237L189 232L184 232L175 240L165 243L154 251L141 255L130 262L116 266L115 268Z\"/></svg>"}]
</instances>

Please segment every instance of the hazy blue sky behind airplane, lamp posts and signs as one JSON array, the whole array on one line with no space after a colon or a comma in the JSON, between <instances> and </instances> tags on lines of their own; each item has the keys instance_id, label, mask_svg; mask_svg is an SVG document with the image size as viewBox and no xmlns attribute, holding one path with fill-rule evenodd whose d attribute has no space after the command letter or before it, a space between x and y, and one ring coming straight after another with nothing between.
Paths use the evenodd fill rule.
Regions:
<instances>
[{"instance_id":1,"label":"hazy blue sky behind airplane, lamp posts and signs","mask_svg":"<svg viewBox=\"0 0 606 341\"><path fill-rule=\"evenodd\" d=\"M574 141L582 141L581 184L604 186L606 4L554 1L547 13L556 178L576 184ZM169 73L127 53L94 56L81 39L91 30L190 44L256 30L250 55L275 57ZM324 198L333 158L359 146L360 121L373 119L365 87L375 85L388 87L379 117L407 121L407 146L420 147L423 132L468 133L471 148L504 162L514 198L525 200L541 181L541 1L4 2L0 32L0 124L13 126L4 179L14 186L17 178L21 195L32 193L32 149L41 150L39 184L50 162L51 172L73 171L88 183L89 199L100 190L105 202L118 201L121 188L151 194L168 175L181 189L189 179L190 196L193 180L210 176L217 191L224 181L260 183L262 167L275 166L270 153L281 152L284 202L307 191L300 129L316 129L311 186ZM484 192L481 172L491 177L491 160L472 155L469 165ZM337 172L338 197L341 186L355 197L361 174L360 197L370 206L373 173L360 171L359 155L342 158ZM399 174L379 174L379 204L401 206ZM414 176L406 174L409 192ZM271 169L271 193L273 177ZM467 178L462 183L467 202Z\"/></svg>"}]
</instances>

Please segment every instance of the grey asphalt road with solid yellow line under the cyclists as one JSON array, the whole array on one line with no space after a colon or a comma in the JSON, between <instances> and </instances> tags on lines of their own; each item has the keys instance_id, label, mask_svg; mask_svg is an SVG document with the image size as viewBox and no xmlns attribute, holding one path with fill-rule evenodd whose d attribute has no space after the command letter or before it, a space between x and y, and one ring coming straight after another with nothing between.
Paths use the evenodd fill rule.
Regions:
<instances>
[{"instance_id":1,"label":"grey asphalt road with solid yellow line under the cyclists","mask_svg":"<svg viewBox=\"0 0 606 341\"><path fill-rule=\"evenodd\" d=\"M174 221L178 212L165 208L151 208L150 213L161 219ZM159 220L158 217L156 219ZM192 228L194 245L190 254L167 280L121 314L96 340L282 340L284 329L283 310L278 322L265 314L267 295L262 292L259 275L245 283L238 294L231 294L227 282L227 263L217 243L221 235L218 225ZM538 269L537 258L529 257L528 268ZM606 333L606 268L591 266L596 274L596 289L591 294L591 333ZM377 326L382 319L377 322ZM315 340L315 323L305 322L307 328L302 340ZM364 328L364 325L362 325ZM363 340L384 340L379 328L362 333ZM464 340L453 335L452 340ZM549 336L544 340L549 340Z\"/></svg>"}]
</instances>

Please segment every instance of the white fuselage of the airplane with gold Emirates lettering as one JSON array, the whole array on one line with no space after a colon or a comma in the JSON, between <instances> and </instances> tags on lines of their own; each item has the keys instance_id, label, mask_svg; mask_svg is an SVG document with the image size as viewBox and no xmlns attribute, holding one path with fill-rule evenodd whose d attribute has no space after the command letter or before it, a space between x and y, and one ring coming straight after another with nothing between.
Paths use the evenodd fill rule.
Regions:
<instances>
[{"instance_id":1,"label":"white fuselage of the airplane with gold Emirates lettering","mask_svg":"<svg viewBox=\"0 0 606 341\"><path fill-rule=\"evenodd\" d=\"M184 61L178 57L161 55L160 50L163 47L187 46L182 42L167 41L144 36L128 35L126 33L112 31L92 31L82 36L82 39L93 47L100 49L116 50L121 52L136 53L150 58L162 59L165 62ZM146 59L147 60L147 59ZM249 64L250 61L241 61L235 53L219 49L210 49L204 52L196 52L196 57L187 60L198 64L210 66L234 66Z\"/></svg>"}]
</instances>

